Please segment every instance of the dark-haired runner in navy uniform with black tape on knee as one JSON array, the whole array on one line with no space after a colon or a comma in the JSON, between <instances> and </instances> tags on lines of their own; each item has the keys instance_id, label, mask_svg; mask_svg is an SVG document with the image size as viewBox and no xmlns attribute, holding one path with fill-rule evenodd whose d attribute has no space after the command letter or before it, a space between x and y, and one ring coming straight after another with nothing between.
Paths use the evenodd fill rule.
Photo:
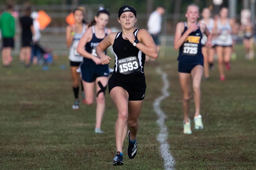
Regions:
<instances>
[{"instance_id":1,"label":"dark-haired runner in navy uniform with black tape on knee","mask_svg":"<svg viewBox=\"0 0 256 170\"><path fill-rule=\"evenodd\" d=\"M96 86L97 108L95 133L104 133L101 130L101 122L105 112L105 90L108 82L109 67L108 65L101 65L100 58L95 53L95 48L111 32L110 29L106 28L109 20L109 12L107 10L100 10L94 19L80 39L77 52L83 56L83 62L80 65L80 74L88 105L93 103L94 86Z\"/></svg>"}]
</instances>

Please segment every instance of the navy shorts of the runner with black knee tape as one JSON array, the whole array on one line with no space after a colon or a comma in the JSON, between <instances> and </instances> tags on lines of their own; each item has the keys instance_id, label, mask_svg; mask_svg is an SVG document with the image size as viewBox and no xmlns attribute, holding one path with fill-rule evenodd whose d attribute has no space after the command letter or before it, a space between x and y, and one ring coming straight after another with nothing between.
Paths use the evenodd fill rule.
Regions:
<instances>
[{"instance_id":1,"label":"navy shorts of the runner with black knee tape","mask_svg":"<svg viewBox=\"0 0 256 170\"><path fill-rule=\"evenodd\" d=\"M80 65L80 71L82 80L88 83L94 82L97 77L109 76L108 65L96 65L94 62L87 64L83 61Z\"/></svg>"}]
</instances>

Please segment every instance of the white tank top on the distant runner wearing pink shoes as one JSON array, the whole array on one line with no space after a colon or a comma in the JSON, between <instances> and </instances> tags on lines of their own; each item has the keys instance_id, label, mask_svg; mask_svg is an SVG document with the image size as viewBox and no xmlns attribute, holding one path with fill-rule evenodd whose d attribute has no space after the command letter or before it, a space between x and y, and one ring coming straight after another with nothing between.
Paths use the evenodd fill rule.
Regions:
<instances>
[{"instance_id":1,"label":"white tank top on the distant runner wearing pink shoes","mask_svg":"<svg viewBox=\"0 0 256 170\"><path fill-rule=\"evenodd\" d=\"M233 44L232 28L230 26L230 21L227 19L225 24L221 24L220 19L217 21L217 29L220 30L220 35L216 38L216 45L219 46L231 46Z\"/></svg>"}]
</instances>

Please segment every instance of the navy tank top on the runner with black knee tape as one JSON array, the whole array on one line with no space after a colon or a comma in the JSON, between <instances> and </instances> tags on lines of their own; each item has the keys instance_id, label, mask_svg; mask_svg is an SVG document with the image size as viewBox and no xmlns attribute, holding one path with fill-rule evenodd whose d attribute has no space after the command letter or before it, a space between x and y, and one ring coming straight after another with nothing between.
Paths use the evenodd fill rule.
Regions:
<instances>
[{"instance_id":1,"label":"navy tank top on the runner with black knee tape","mask_svg":"<svg viewBox=\"0 0 256 170\"><path fill-rule=\"evenodd\" d=\"M107 36L107 28L105 27L105 37ZM88 53L91 53L93 56L97 56L96 54L96 47L97 45L103 40L104 38L102 39L99 39L95 36L95 27L92 26L92 40L90 42L87 42L85 44L85 50L88 52ZM94 61L92 59L89 59L89 58L83 58L83 61L85 61L85 63L91 63Z\"/></svg>"}]
</instances>

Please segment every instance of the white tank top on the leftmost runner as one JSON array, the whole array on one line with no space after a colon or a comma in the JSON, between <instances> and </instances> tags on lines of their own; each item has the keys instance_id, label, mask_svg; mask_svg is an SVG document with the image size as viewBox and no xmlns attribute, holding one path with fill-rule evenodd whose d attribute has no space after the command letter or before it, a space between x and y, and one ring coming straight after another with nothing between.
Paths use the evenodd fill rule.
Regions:
<instances>
[{"instance_id":1,"label":"white tank top on the leftmost runner","mask_svg":"<svg viewBox=\"0 0 256 170\"><path fill-rule=\"evenodd\" d=\"M83 56L81 56L77 51L76 48L78 46L78 42L80 41L81 37L86 31L86 25L83 24L83 31L81 33L76 33L73 36L73 42L69 48L69 60L74 62L82 62Z\"/></svg>"}]
</instances>

